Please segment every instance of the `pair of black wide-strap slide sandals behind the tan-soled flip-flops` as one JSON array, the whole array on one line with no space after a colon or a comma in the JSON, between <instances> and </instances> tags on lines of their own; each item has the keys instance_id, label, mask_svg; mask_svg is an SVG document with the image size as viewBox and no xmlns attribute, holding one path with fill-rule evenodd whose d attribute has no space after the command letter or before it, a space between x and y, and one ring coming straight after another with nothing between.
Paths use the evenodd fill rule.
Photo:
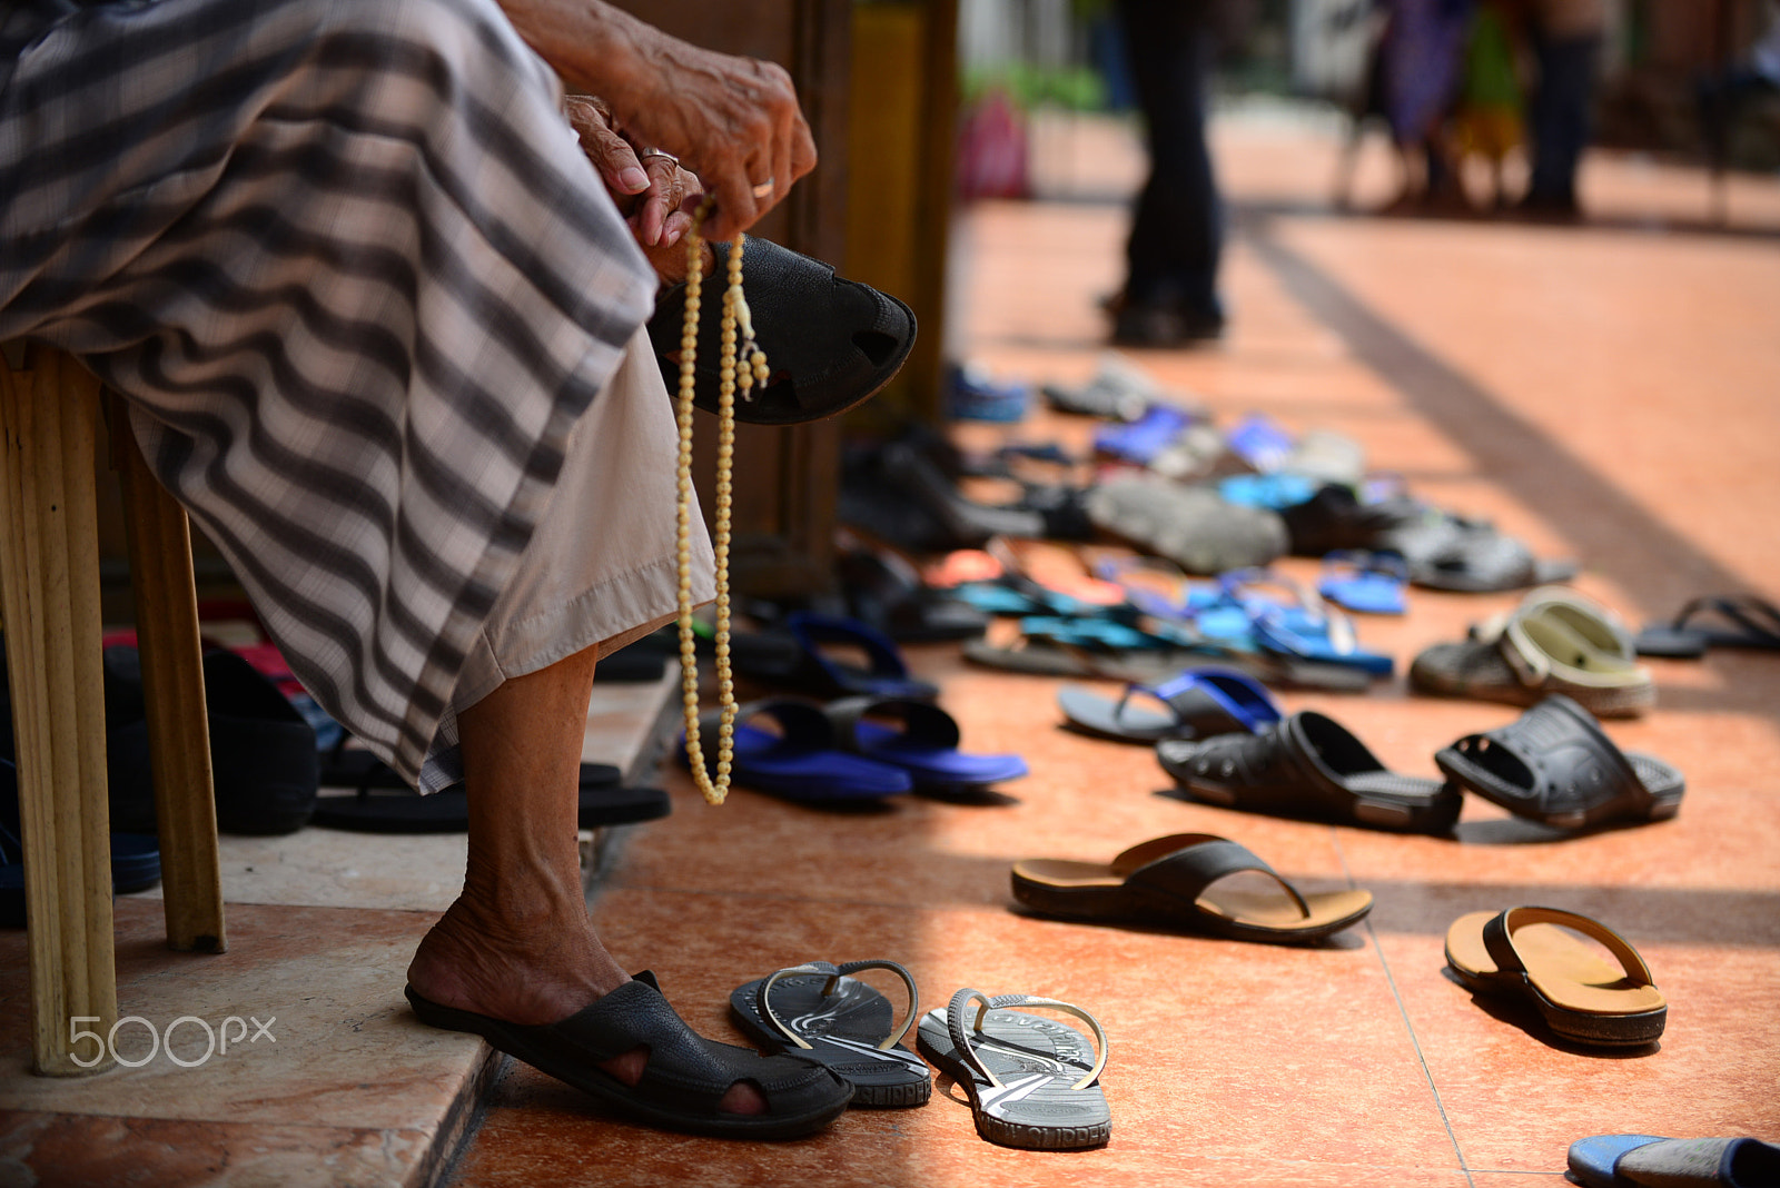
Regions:
<instances>
[{"instance_id":1,"label":"pair of black wide-strap slide sandals behind the tan-soled flip-flops","mask_svg":"<svg viewBox=\"0 0 1780 1188\"><path fill-rule=\"evenodd\" d=\"M1463 791L1554 829L1666 820L1686 791L1680 772L1622 752L1561 694L1442 749L1435 763L1444 781L1385 770L1351 731L1314 710L1257 734L1164 740L1155 752L1196 800L1433 834L1458 822Z\"/></svg>"}]
</instances>

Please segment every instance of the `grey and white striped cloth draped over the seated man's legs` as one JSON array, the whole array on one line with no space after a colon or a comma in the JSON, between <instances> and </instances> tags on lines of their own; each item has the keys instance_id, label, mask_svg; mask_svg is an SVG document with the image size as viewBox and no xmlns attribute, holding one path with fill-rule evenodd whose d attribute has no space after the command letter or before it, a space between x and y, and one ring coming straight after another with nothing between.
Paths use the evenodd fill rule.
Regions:
<instances>
[{"instance_id":1,"label":"grey and white striped cloth draped over the seated man's legs","mask_svg":"<svg viewBox=\"0 0 1780 1188\"><path fill-rule=\"evenodd\" d=\"M653 285L493 0L0 9L0 340L130 398L299 679L424 790Z\"/></svg>"}]
</instances>

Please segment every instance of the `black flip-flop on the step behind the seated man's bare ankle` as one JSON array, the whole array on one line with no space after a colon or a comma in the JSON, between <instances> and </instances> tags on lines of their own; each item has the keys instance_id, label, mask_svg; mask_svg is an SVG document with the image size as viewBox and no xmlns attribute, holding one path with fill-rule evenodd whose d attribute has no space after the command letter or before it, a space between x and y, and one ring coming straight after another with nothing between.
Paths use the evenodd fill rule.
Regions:
<instances>
[{"instance_id":1,"label":"black flip-flop on the step behind the seated man's bare ankle","mask_svg":"<svg viewBox=\"0 0 1780 1188\"><path fill-rule=\"evenodd\" d=\"M660 788L627 788L616 767L580 765L580 829L635 825L673 811ZM461 784L422 797L413 788L360 786L352 797L319 797L312 825L365 834L461 834L470 829L470 800Z\"/></svg>"}]
</instances>

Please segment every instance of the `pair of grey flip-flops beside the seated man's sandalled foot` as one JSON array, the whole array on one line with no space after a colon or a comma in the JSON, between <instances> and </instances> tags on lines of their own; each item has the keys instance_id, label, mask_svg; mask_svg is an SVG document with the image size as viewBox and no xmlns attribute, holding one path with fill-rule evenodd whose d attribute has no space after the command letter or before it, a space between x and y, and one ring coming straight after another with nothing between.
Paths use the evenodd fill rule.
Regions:
<instances>
[{"instance_id":1,"label":"pair of grey flip-flops beside the seated man's sandalled foot","mask_svg":"<svg viewBox=\"0 0 1780 1188\"><path fill-rule=\"evenodd\" d=\"M853 976L867 969L902 980L908 1014L901 1026L890 999ZM1075 1015L1093 1039L1015 1007ZM865 1108L908 1108L931 1099L927 1065L901 1042L918 1017L915 1046L965 1088L977 1133L988 1142L1075 1151L1100 1147L1112 1133L1100 1092L1105 1031L1072 1003L1032 994L990 998L967 987L943 1010L922 1015L913 975L892 960L806 962L735 987L730 1017L769 1051L815 1060L851 1081L853 1104Z\"/></svg>"}]
</instances>

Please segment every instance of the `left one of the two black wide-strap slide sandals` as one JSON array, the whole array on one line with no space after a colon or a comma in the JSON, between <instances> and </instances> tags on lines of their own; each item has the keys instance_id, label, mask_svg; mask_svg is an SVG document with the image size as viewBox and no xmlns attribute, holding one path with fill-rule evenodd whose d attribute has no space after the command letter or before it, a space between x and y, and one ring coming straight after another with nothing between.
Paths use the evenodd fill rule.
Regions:
<instances>
[{"instance_id":1,"label":"left one of the two black wide-strap slide sandals","mask_svg":"<svg viewBox=\"0 0 1780 1188\"><path fill-rule=\"evenodd\" d=\"M1258 734L1166 740L1155 758L1194 800L1248 813L1444 834L1460 811L1458 788L1387 772L1365 743L1312 710Z\"/></svg>"}]
</instances>

